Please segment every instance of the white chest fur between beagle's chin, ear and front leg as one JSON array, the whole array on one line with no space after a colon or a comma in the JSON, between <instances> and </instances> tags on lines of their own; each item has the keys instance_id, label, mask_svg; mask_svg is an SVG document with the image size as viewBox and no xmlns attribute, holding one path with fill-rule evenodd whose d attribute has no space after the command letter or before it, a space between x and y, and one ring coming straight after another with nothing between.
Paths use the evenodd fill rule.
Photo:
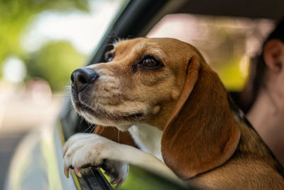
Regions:
<instances>
[{"instance_id":1,"label":"white chest fur between beagle's chin, ear and front leg","mask_svg":"<svg viewBox=\"0 0 284 190\"><path fill-rule=\"evenodd\" d=\"M158 127L147 124L132 125L129 128L129 132L141 150L153 154L163 161L160 152L160 142L163 132Z\"/></svg>"}]
</instances>

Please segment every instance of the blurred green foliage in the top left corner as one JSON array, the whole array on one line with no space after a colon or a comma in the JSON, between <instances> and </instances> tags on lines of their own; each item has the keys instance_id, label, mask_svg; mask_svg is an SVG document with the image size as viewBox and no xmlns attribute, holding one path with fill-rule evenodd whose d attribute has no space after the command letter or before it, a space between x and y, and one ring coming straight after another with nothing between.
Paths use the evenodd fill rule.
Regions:
<instances>
[{"instance_id":1,"label":"blurred green foliage in the top left corner","mask_svg":"<svg viewBox=\"0 0 284 190\"><path fill-rule=\"evenodd\" d=\"M0 0L0 65L7 56L23 56L20 38L42 11L89 11L88 0Z\"/></svg>"}]
</instances>

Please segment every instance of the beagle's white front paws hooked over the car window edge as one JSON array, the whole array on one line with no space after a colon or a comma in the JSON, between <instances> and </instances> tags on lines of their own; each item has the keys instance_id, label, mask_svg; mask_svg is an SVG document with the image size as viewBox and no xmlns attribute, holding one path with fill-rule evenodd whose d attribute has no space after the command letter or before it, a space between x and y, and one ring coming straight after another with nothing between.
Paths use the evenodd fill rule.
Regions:
<instances>
[{"instance_id":1,"label":"beagle's white front paws hooked over the car window edge","mask_svg":"<svg viewBox=\"0 0 284 190\"><path fill-rule=\"evenodd\" d=\"M111 184L120 186L129 172L129 165L109 159L111 152L117 151L116 142L97 134L78 133L70 137L63 148L65 176L69 177L69 169L74 169L77 176L89 167L102 167L111 177Z\"/></svg>"}]
</instances>

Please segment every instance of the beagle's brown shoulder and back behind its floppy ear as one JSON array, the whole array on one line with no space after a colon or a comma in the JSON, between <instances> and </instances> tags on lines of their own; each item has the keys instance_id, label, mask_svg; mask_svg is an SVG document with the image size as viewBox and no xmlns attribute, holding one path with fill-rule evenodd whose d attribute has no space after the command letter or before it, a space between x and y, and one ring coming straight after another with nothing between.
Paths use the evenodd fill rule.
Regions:
<instances>
[{"instance_id":1,"label":"beagle's brown shoulder and back behind its floppy ear","mask_svg":"<svg viewBox=\"0 0 284 190\"><path fill-rule=\"evenodd\" d=\"M241 122L241 139L233 156L222 166L200 174L190 184L210 189L283 189L283 176L256 132Z\"/></svg>"}]
</instances>

